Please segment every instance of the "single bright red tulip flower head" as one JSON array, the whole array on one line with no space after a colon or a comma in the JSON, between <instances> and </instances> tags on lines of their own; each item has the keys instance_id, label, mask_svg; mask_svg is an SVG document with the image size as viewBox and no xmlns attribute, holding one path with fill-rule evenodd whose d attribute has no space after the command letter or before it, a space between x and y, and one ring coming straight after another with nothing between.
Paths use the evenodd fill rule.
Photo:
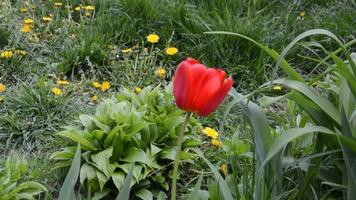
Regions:
<instances>
[{"instance_id":1,"label":"single bright red tulip flower head","mask_svg":"<svg viewBox=\"0 0 356 200\"><path fill-rule=\"evenodd\" d=\"M173 94L177 106L185 111L208 116L216 110L232 87L221 69L207 68L198 61L187 58L175 72Z\"/></svg>"}]
</instances>

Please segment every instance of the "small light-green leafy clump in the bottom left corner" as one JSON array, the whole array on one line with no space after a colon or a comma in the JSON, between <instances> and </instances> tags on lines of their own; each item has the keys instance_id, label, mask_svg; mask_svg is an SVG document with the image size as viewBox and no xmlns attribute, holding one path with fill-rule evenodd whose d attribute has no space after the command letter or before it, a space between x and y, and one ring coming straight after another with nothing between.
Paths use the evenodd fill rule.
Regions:
<instances>
[{"instance_id":1,"label":"small light-green leafy clump in the bottom left corner","mask_svg":"<svg viewBox=\"0 0 356 200\"><path fill-rule=\"evenodd\" d=\"M25 181L27 163L18 155L9 156L0 169L0 199L35 199L47 189L35 181Z\"/></svg>"}]
</instances>

